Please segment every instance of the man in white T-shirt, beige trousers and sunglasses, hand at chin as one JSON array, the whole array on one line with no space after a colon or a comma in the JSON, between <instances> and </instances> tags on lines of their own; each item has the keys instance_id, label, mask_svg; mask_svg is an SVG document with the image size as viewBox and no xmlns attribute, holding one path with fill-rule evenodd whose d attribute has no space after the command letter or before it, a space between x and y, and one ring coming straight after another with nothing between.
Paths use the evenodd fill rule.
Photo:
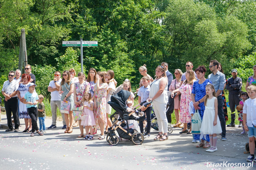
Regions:
<instances>
[{"instance_id":1,"label":"man in white T-shirt, beige trousers and sunglasses, hand at chin","mask_svg":"<svg viewBox=\"0 0 256 170\"><path fill-rule=\"evenodd\" d=\"M59 108L59 110L61 109L61 94L59 94L60 84L61 84L61 73L59 71L56 71L54 73L53 80L50 81L48 85L48 92L51 92L52 125L47 129L53 129L57 127L56 126L57 108ZM61 113L61 116L63 120L62 129L66 129L67 127L66 127L64 113Z\"/></svg>"}]
</instances>

